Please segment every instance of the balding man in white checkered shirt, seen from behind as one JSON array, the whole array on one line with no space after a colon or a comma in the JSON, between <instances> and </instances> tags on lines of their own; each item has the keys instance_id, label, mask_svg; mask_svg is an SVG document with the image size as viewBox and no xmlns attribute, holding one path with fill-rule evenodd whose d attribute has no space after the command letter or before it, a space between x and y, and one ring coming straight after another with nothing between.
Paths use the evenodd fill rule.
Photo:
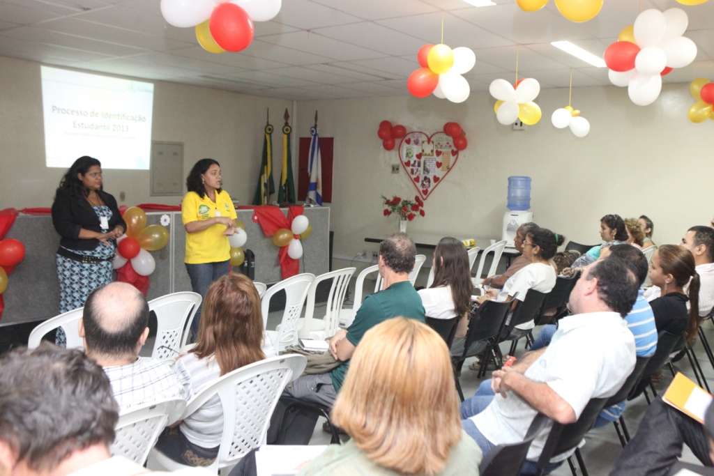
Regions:
<instances>
[{"instance_id":1,"label":"balding man in white checkered shirt, seen from behind","mask_svg":"<svg viewBox=\"0 0 714 476\"><path fill-rule=\"evenodd\" d=\"M110 283L84 304L79 335L86 355L104 368L120 411L170 397L184 397L181 376L165 362L139 357L149 337L149 304L134 286ZM188 375L185 376L188 380Z\"/></svg>"}]
</instances>

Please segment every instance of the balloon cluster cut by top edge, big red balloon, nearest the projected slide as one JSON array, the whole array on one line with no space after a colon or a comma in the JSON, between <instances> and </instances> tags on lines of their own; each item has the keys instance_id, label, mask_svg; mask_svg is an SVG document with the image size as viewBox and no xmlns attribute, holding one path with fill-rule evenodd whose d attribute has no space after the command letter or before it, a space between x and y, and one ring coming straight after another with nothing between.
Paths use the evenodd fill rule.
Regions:
<instances>
[{"instance_id":1,"label":"balloon cluster cut by top edge, big red balloon, nearest the projected slide","mask_svg":"<svg viewBox=\"0 0 714 476\"><path fill-rule=\"evenodd\" d=\"M281 0L161 0L161 14L178 28L196 27L196 39L211 53L241 51L253 41L253 21L268 21Z\"/></svg>"}]
</instances>

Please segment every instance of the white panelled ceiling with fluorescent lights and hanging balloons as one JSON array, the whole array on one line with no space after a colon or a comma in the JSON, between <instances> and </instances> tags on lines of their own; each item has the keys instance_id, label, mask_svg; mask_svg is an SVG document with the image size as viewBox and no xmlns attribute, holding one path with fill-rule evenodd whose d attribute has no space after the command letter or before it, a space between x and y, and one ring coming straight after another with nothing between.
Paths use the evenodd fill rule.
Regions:
<instances>
[{"instance_id":1,"label":"white panelled ceiling with fluorescent lights and hanging balloons","mask_svg":"<svg viewBox=\"0 0 714 476\"><path fill-rule=\"evenodd\" d=\"M543 88L609 84L598 69L550 45L569 40L602 55L633 24L639 0L605 0L583 24L560 16L554 0L527 13L514 0L476 8L463 0L283 0L272 21L255 24L253 43L240 53L211 54L192 28L164 21L159 0L0 0L0 56L124 76L188 83L285 99L404 96L417 69L416 53L438 43L468 46L476 66L472 90L519 76ZM668 82L714 79L714 0L683 6L642 0L643 8L678 6L689 15L685 33L698 46L695 62ZM520 45L520 46L518 46Z\"/></svg>"}]
</instances>

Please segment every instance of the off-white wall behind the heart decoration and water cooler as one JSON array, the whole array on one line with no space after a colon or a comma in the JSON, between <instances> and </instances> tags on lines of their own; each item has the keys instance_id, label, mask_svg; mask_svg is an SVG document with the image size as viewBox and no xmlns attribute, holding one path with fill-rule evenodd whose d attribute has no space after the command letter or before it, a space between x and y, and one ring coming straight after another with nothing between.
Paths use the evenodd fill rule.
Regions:
<instances>
[{"instance_id":1,"label":"off-white wall behind the heart decoration and water cooler","mask_svg":"<svg viewBox=\"0 0 714 476\"><path fill-rule=\"evenodd\" d=\"M410 231L497 238L506 212L507 178L531 176L531 211L540 226L580 243L599 243L599 220L650 216L655 242L677 243L687 228L706 225L714 214L714 122L694 124L687 111L695 100L688 84L663 88L657 102L635 106L627 88L573 89L573 106L590 121L585 138L550 123L568 105L567 89L544 89L536 102L543 118L526 131L496 121L488 92L462 104L436 98L368 98L299 103L298 131L319 111L321 136L335 138L331 228L336 255L373 250L366 236L396 231L382 216L380 195L413 196L398 163L398 147L387 152L377 137L380 121L407 131L433 133L448 121L461 124L468 148L426 201L426 218Z\"/></svg>"}]
</instances>

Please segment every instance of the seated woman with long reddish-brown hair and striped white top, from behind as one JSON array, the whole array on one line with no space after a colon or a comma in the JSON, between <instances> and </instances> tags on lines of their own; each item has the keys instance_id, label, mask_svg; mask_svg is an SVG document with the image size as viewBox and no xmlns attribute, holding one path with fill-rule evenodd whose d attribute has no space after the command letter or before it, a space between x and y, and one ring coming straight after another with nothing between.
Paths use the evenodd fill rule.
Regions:
<instances>
[{"instance_id":1,"label":"seated woman with long reddish-brown hair and striped white top, from behind","mask_svg":"<svg viewBox=\"0 0 714 476\"><path fill-rule=\"evenodd\" d=\"M196 347L174 364L186 400L219 377L275 355L263 334L261 298L242 274L223 275L206 291ZM218 395L181 422L166 428L156 449L183 465L208 466L223 437L223 407Z\"/></svg>"}]
</instances>

